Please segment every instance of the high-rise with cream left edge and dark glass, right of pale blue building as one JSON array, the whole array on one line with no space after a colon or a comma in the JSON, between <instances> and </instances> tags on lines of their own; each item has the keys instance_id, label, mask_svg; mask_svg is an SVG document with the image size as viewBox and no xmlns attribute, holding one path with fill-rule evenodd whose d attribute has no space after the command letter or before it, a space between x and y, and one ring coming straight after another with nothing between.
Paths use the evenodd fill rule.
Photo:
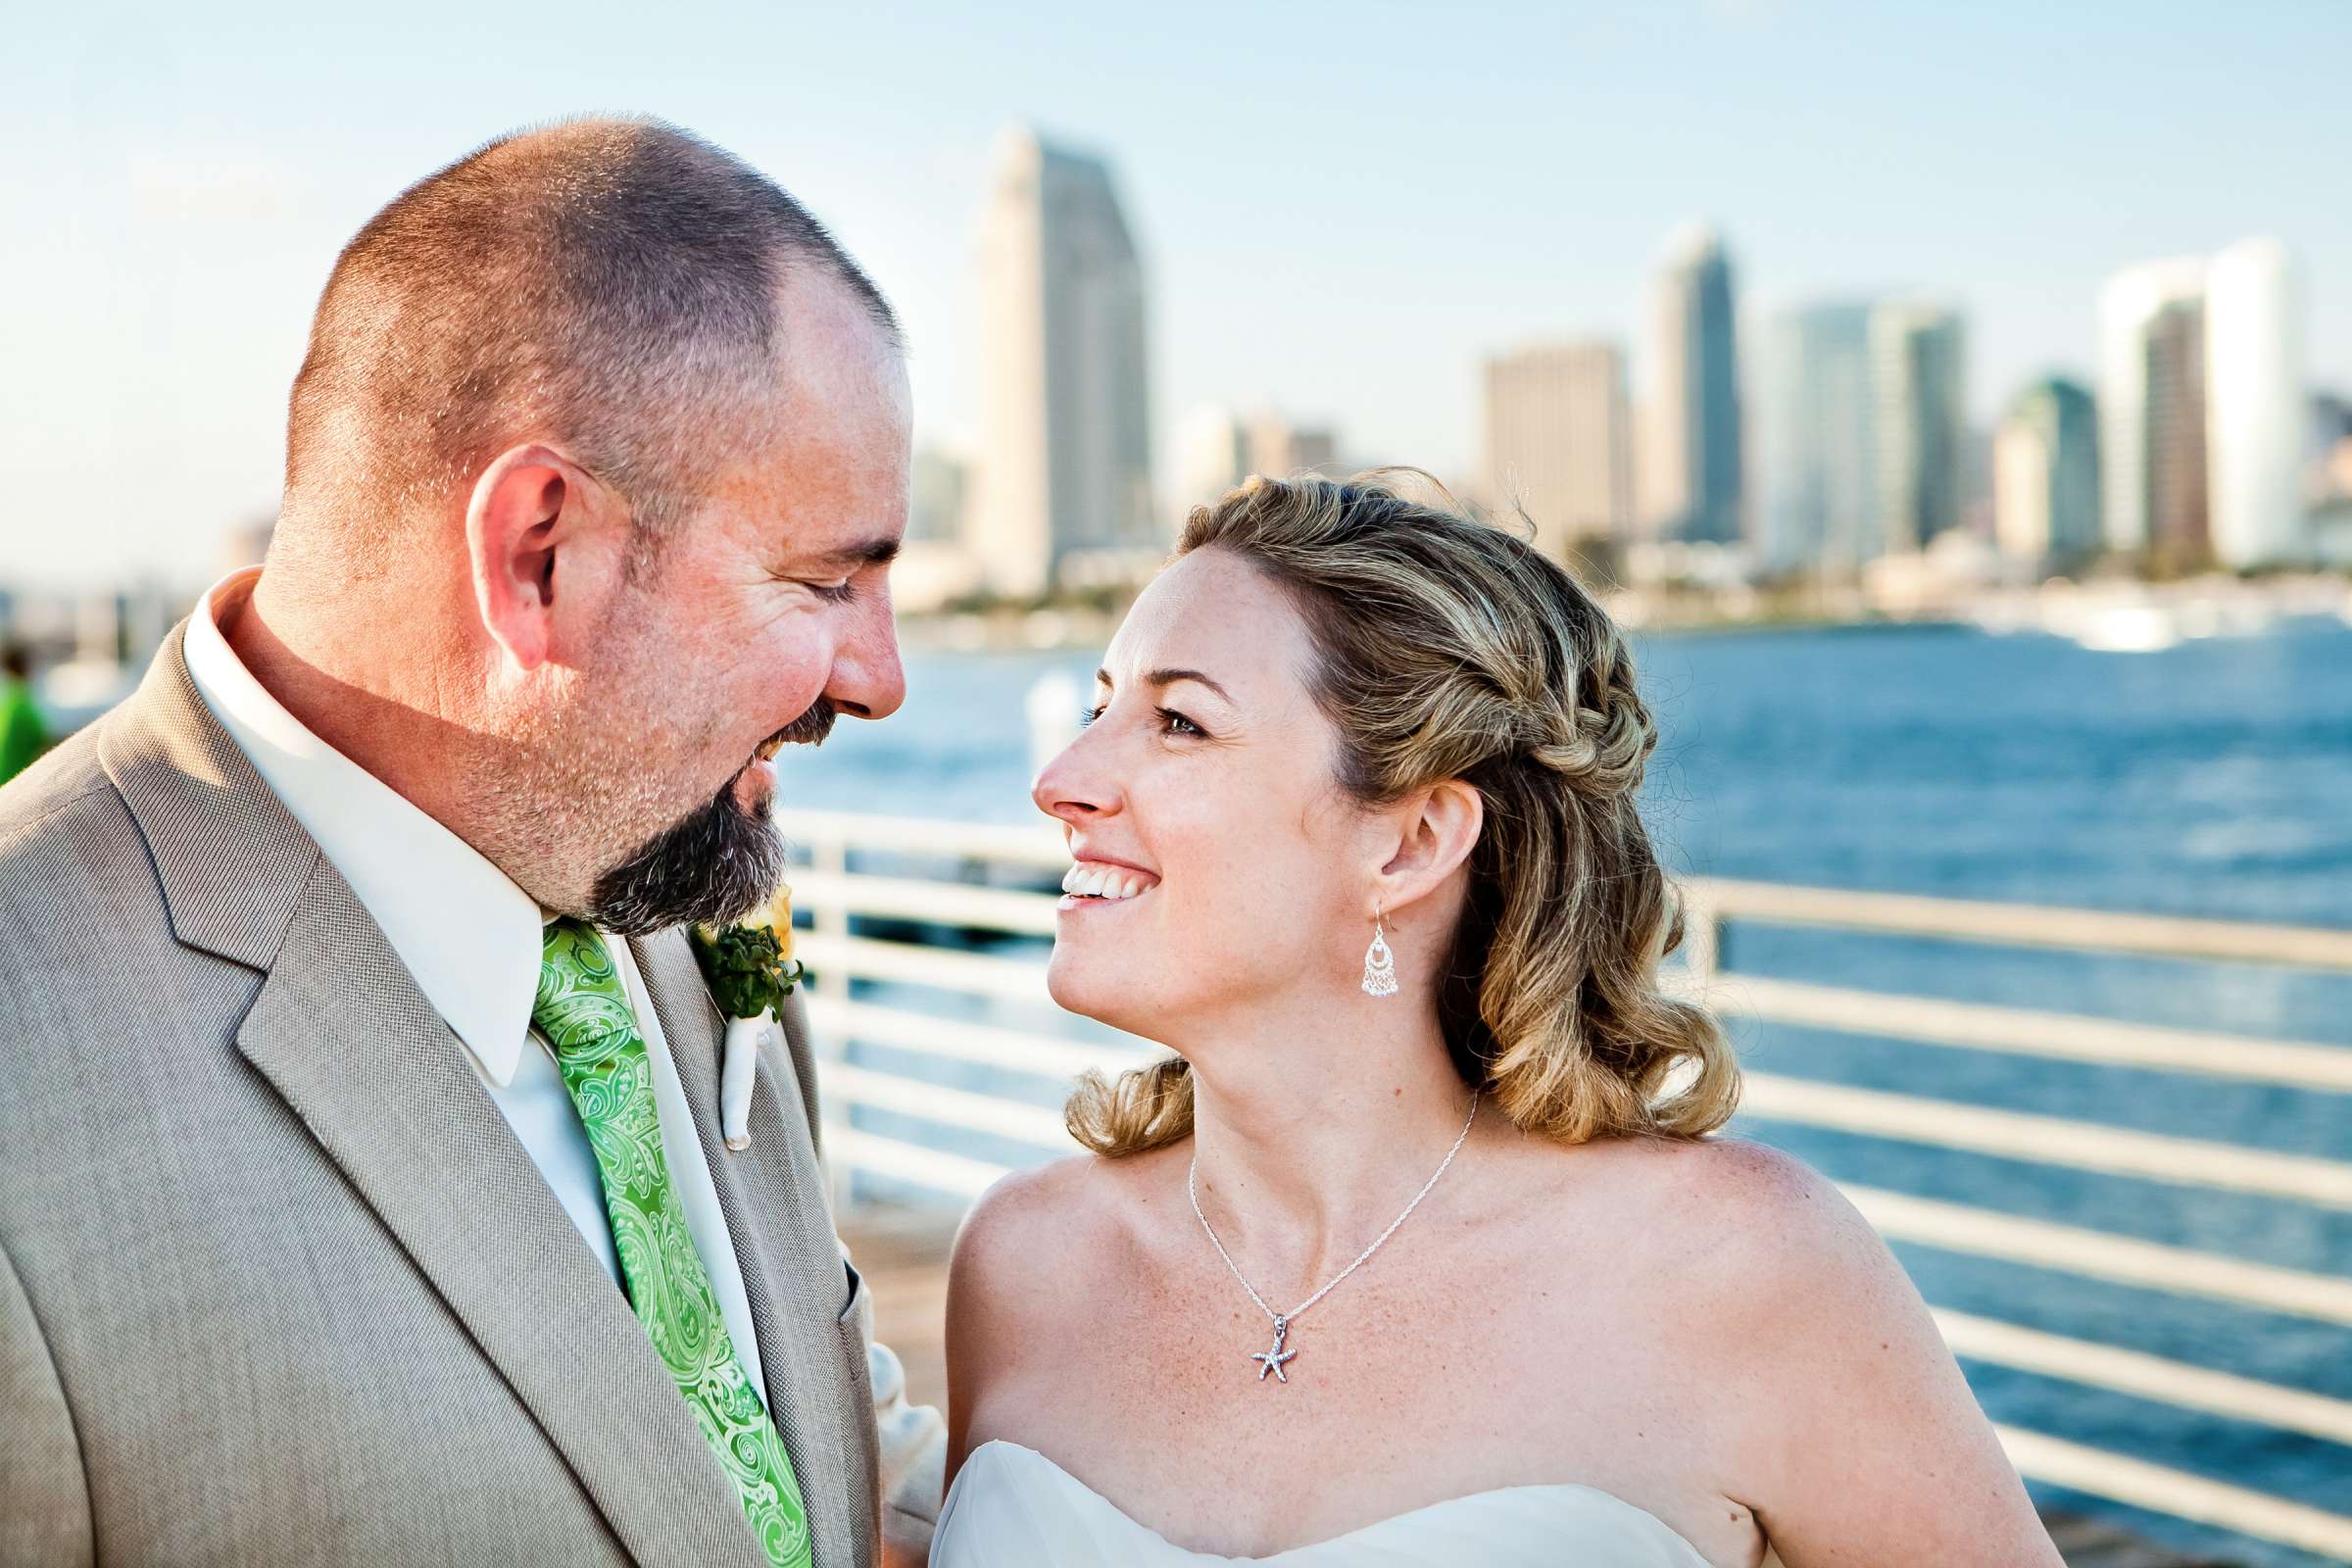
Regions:
<instances>
[{"instance_id":1,"label":"high-rise with cream left edge and dark glass, right of pale blue building","mask_svg":"<svg viewBox=\"0 0 2352 1568\"><path fill-rule=\"evenodd\" d=\"M1959 527L1969 444L1966 329L1950 306L1882 301L1870 310L1877 404L1879 548L1924 550Z\"/></svg>"}]
</instances>

